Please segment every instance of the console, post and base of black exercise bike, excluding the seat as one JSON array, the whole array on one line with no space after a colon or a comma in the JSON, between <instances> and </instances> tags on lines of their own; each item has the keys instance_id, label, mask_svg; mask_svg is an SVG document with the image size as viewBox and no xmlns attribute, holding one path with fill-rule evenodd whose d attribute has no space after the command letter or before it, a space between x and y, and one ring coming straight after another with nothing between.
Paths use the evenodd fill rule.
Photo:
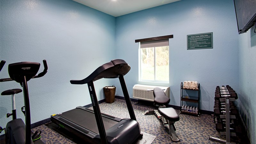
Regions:
<instances>
[{"instance_id":1,"label":"console, post and base of black exercise bike, excluding the seat","mask_svg":"<svg viewBox=\"0 0 256 144\"><path fill-rule=\"evenodd\" d=\"M4 66L5 61L1 61L1 69ZM44 71L36 75L40 68L40 63L37 62L18 62L12 63L8 66L8 73L10 78L0 79L0 82L6 81L16 81L20 83L23 87L24 94L24 103L25 106L22 112L25 114L25 124L20 118L13 117L13 120L6 124L5 128L5 142L6 144L34 144L34 143L43 143L41 140L33 141L31 134L34 137L34 133L31 132L31 120L30 120L30 105L29 105L29 96L28 96L28 84L27 82L31 78L42 77L47 73L47 63L46 60L43 60ZM0 71L1 71L0 69ZM16 115L16 114L15 114ZM41 133L41 132L40 132ZM39 138L40 139L40 133ZM35 132L36 134L36 132Z\"/></svg>"}]
</instances>

